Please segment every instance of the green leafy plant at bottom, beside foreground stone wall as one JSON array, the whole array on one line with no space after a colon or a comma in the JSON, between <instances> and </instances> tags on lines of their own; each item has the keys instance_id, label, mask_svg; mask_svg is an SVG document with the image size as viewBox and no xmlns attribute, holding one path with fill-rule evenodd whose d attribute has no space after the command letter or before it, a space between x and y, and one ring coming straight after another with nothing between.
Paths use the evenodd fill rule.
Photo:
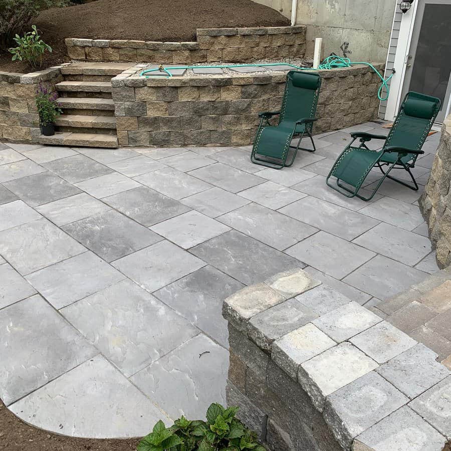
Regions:
<instances>
[{"instance_id":1,"label":"green leafy plant at bottom, beside foreground stone wall","mask_svg":"<svg viewBox=\"0 0 451 451\"><path fill-rule=\"evenodd\" d=\"M138 444L138 451L265 451L255 432L235 417L238 407L213 403L206 421L189 421L184 416L165 427L158 421Z\"/></svg>"}]
</instances>

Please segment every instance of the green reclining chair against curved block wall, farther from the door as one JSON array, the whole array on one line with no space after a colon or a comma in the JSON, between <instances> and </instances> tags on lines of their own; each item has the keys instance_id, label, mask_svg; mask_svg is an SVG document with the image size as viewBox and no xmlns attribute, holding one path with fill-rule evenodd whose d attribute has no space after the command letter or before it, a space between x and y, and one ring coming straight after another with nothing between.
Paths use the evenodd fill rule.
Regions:
<instances>
[{"instance_id":1,"label":"green reclining chair against curved block wall, farther from the door","mask_svg":"<svg viewBox=\"0 0 451 451\"><path fill-rule=\"evenodd\" d=\"M251 161L263 166L282 169L291 166L299 149L314 152L312 138L313 122L316 121L316 104L321 87L321 76L306 72L290 71L287 74L281 111L265 111L259 114L260 125L251 153ZM269 119L279 115L278 125L271 125ZM307 134L313 150L300 147L301 139ZM291 145L293 136L299 136L296 146ZM287 164L288 151L295 149Z\"/></svg>"}]
</instances>

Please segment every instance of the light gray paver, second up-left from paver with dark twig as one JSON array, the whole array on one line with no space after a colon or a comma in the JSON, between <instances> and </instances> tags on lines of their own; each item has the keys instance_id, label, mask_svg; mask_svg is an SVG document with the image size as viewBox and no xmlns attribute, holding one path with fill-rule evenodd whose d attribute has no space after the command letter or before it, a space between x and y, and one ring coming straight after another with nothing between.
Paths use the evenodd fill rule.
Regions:
<instances>
[{"instance_id":1,"label":"light gray paver, second up-left from paver with dark twig","mask_svg":"<svg viewBox=\"0 0 451 451\"><path fill-rule=\"evenodd\" d=\"M27 276L27 280L56 308L125 279L92 252L84 252Z\"/></svg>"}]
</instances>

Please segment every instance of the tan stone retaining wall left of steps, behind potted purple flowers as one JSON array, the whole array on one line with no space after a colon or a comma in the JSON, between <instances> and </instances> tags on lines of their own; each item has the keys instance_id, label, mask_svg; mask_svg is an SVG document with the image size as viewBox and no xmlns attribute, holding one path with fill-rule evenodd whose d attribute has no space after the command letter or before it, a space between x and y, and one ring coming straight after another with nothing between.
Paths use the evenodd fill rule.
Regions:
<instances>
[{"instance_id":1,"label":"tan stone retaining wall left of steps, behind potted purple flowers","mask_svg":"<svg viewBox=\"0 0 451 451\"><path fill-rule=\"evenodd\" d=\"M36 91L42 83L49 92L63 80L61 66L29 74L0 72L0 137L33 141L39 134Z\"/></svg>"}]
</instances>

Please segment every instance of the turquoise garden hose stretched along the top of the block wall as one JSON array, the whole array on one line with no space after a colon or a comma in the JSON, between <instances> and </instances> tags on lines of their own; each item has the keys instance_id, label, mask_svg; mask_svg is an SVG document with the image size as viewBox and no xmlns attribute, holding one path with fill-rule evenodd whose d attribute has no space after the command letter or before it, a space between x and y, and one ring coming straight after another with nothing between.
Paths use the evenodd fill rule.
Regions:
<instances>
[{"instance_id":1,"label":"turquoise garden hose stretched along the top of the block wall","mask_svg":"<svg viewBox=\"0 0 451 451\"><path fill-rule=\"evenodd\" d=\"M186 69L230 69L234 67L271 67L271 66L289 66L293 69L301 70L301 71L315 71L315 70L329 70L329 69L336 69L336 68L346 68L351 67L354 65L363 64L365 66L368 66L370 69L372 69L377 76L381 80L381 85L377 91L377 97L380 101L384 101L388 99L389 94L389 87L388 87L388 81L393 77L393 74L395 73L395 70L392 69L392 73L387 79L384 78L384 76L371 64L367 63L366 61L362 62L353 62L349 58L342 58L338 55L330 55L327 58L324 59L324 61L319 65L317 69L313 69L311 67L301 67L296 66L295 64L291 63L256 63L256 64L220 64L220 65L206 65L206 66L169 66L169 67L163 67L163 65L160 65L158 68L155 69L146 69L145 71L141 72L142 77L149 78L152 72L165 72L169 77L172 77L171 70L186 70ZM382 97L382 91L385 88L387 94Z\"/></svg>"}]
</instances>

